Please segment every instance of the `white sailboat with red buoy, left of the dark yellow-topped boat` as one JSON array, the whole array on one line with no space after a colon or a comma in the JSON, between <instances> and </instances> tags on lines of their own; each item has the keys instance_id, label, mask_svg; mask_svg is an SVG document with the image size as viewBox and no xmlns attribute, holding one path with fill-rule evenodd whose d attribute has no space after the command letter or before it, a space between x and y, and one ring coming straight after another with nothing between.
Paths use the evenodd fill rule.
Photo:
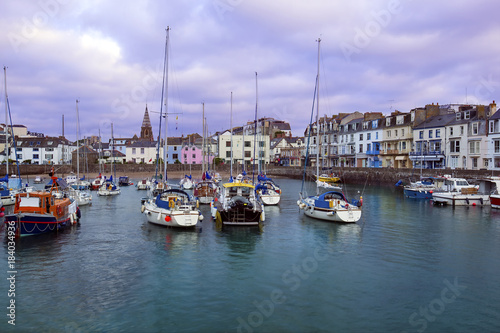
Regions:
<instances>
[{"instance_id":1,"label":"white sailboat with red buoy, left of the dark yellow-topped boat","mask_svg":"<svg viewBox=\"0 0 500 333\"><path fill-rule=\"evenodd\" d=\"M169 47L169 31L167 27L167 37L165 41L165 60L163 71L163 85L162 85L162 103L160 107L160 130L161 122L164 116L163 113L163 91L166 89L165 82L168 82L168 47ZM168 86L167 86L168 87ZM168 91L168 90L167 90ZM168 129L168 108L167 108L168 93L165 97L165 148L163 152L163 160L166 161L167 150L167 129ZM158 145L156 150L156 171L155 176L158 175L158 161L160 152L160 136L158 136ZM164 163L165 187L167 186L167 163ZM159 184L157 182L157 184ZM203 215L198 210L198 202L181 189L164 188L159 193L151 195L148 199L144 200L141 206L141 212L146 215L149 223L158 224L167 227L195 227L198 221L203 220Z\"/></svg>"}]
</instances>

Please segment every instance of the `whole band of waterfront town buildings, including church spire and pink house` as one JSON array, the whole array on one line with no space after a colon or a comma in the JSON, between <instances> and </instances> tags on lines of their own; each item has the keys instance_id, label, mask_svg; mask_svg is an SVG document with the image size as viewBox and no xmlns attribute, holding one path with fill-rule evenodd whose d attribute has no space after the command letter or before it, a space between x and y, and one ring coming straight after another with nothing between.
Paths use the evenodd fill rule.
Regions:
<instances>
[{"instance_id":1,"label":"whole band of waterfront town buildings, including church spire and pink house","mask_svg":"<svg viewBox=\"0 0 500 333\"><path fill-rule=\"evenodd\" d=\"M5 126L0 125L0 130ZM10 144L9 159L31 164L69 164L76 156L76 143L64 137L45 137L15 125L16 146ZM8 128L12 141L11 128ZM140 136L100 142L98 137L79 143L79 151L110 163L231 163L250 169L254 160L264 167L303 166L322 168L425 168L500 170L500 113L495 101L489 105L429 104L409 112L353 112L323 116L304 126L304 136L293 137L290 124L263 117L242 126L217 132L155 140L146 107ZM3 141L2 141L3 140ZM85 148L83 148L85 147ZM306 148L309 147L307 150ZM5 161L5 131L0 135L0 160ZM83 155L82 155L83 156Z\"/></svg>"}]
</instances>

